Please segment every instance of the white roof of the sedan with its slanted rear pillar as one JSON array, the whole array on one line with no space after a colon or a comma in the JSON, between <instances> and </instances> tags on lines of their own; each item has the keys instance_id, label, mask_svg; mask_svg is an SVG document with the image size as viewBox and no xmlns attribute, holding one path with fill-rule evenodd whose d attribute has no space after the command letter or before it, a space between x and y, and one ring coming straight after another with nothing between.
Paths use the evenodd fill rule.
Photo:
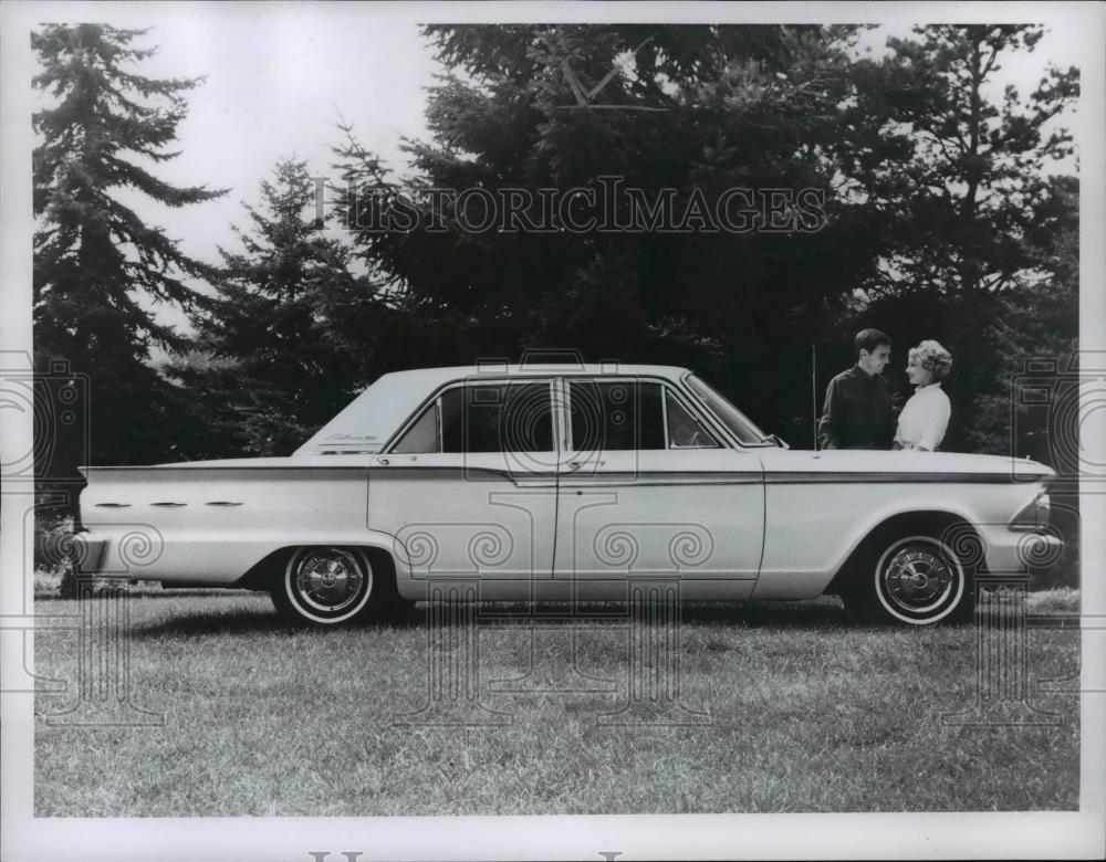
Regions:
<instances>
[{"instance_id":1,"label":"white roof of the sedan with its slanted rear pillar","mask_svg":"<svg viewBox=\"0 0 1106 862\"><path fill-rule=\"evenodd\" d=\"M319 455L338 452L379 452L399 425L441 386L453 381L525 379L530 377L660 377L679 380L686 368L667 365L622 365L619 362L559 362L551 365L513 365L481 362L446 368L414 368L392 371L357 396L314 437L295 451L295 455Z\"/></svg>"}]
</instances>

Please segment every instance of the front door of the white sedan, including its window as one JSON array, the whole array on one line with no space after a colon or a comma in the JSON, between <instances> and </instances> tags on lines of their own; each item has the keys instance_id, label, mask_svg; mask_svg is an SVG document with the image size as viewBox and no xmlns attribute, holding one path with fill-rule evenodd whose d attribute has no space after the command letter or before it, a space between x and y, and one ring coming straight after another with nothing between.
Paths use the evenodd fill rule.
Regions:
<instances>
[{"instance_id":1,"label":"front door of the white sedan, including its window","mask_svg":"<svg viewBox=\"0 0 1106 862\"><path fill-rule=\"evenodd\" d=\"M636 577L677 577L687 598L750 595L764 529L760 459L708 430L667 381L562 386L554 578L596 598L624 593Z\"/></svg>"}]
</instances>

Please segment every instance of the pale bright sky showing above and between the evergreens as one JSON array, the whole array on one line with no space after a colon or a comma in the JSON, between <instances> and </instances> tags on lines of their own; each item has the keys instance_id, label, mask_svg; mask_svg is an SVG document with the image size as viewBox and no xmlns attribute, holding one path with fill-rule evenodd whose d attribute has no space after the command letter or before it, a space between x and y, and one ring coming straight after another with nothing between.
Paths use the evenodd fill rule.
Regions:
<instances>
[{"instance_id":1,"label":"pale bright sky showing above and between the evergreens","mask_svg":"<svg viewBox=\"0 0 1106 862\"><path fill-rule=\"evenodd\" d=\"M180 209L137 195L124 195L126 202L164 227L186 253L217 263L219 245L237 248L229 225L247 223L241 201L257 199L279 159L304 159L313 176L334 176L331 147L342 140L336 124L343 118L401 176L400 141L429 138L426 88L445 71L419 33L418 21L430 20L418 14L426 10L404 3L98 7L96 20L152 28L139 44L158 52L142 65L143 74L205 77L188 94L189 113L178 127L175 148L181 155L154 166L155 174L175 185L230 189L223 198ZM909 21L898 15L865 33L862 50L884 51L889 35L909 34ZM1064 63L1063 48L1060 36L1046 32L1034 53L1008 63L1002 81L1029 93L1048 62ZM185 324L171 307L155 312L161 323Z\"/></svg>"}]
</instances>

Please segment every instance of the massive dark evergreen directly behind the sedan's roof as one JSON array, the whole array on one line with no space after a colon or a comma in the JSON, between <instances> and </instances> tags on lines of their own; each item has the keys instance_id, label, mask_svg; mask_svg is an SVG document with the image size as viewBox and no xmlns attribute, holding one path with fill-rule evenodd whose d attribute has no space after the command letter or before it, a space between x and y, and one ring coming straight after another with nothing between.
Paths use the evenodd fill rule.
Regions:
<instances>
[{"instance_id":1,"label":"massive dark evergreen directly behind the sedan's roof","mask_svg":"<svg viewBox=\"0 0 1106 862\"><path fill-rule=\"evenodd\" d=\"M750 190L742 199L760 219L763 190L790 200L812 190L828 219L782 232L577 231L547 227L555 219L543 217L535 196L525 216L542 231L463 230L450 199L440 208L445 230L426 229L430 207L410 232L355 230L357 254L400 286L427 320L424 332L451 334L427 339L424 356L470 362L571 347L591 360L688 365L754 418L793 434L810 403L811 339L883 248L885 220L863 203L864 186L906 151L883 129L880 105L855 107L855 29L444 24L425 32L450 72L428 91L431 139L407 144L416 187L583 189L602 201L598 178L614 176L650 204L671 195L677 219L696 196L714 212L731 190ZM338 159L357 192L344 214L355 228L372 224L361 217L389 191L378 161L355 140ZM628 200L612 203L612 221L632 220ZM481 204L472 209L479 219ZM765 361L763 345L792 339L804 349Z\"/></svg>"}]
</instances>

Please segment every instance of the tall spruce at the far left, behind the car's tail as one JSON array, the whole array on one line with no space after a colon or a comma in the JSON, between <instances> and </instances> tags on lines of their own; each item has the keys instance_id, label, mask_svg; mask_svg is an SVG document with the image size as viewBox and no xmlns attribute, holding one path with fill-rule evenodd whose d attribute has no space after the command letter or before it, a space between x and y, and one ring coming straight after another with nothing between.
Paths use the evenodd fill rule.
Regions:
<instances>
[{"instance_id":1,"label":"tall spruce at the far left, behind the car's tail","mask_svg":"<svg viewBox=\"0 0 1106 862\"><path fill-rule=\"evenodd\" d=\"M60 359L88 375L91 455L98 463L166 455L164 429L179 404L148 360L154 346L179 348L186 339L148 306L196 307L202 296L188 280L211 272L124 200L138 193L184 207L225 193L176 187L143 167L179 155L169 147L186 114L184 94L200 82L139 74L136 67L155 52L134 46L145 33L48 24L31 34L42 70L33 84L49 103L32 119L40 141L33 153L35 365L45 370ZM80 442L60 442L82 451ZM74 466L56 463L53 471Z\"/></svg>"}]
</instances>

